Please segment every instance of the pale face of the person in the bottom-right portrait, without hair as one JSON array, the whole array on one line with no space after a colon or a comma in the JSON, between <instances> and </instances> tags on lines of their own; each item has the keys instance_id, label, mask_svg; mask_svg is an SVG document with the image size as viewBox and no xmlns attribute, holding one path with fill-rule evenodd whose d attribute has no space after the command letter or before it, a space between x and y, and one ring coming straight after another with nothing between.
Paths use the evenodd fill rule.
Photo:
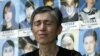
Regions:
<instances>
[{"instance_id":1,"label":"pale face of the person in the bottom-right portrait, without hair","mask_svg":"<svg viewBox=\"0 0 100 56\"><path fill-rule=\"evenodd\" d=\"M94 39L94 36L87 36L84 39L84 47L86 50L87 54L91 54L93 52L95 52L95 48L96 48L96 41Z\"/></svg>"}]
</instances>

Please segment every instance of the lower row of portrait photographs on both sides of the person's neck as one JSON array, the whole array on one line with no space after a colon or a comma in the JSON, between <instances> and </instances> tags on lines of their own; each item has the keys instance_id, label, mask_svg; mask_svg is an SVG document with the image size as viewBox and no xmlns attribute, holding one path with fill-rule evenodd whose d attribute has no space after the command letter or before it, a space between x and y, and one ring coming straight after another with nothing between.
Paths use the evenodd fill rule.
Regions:
<instances>
[{"instance_id":1,"label":"lower row of portrait photographs on both sides of the person's neck","mask_svg":"<svg viewBox=\"0 0 100 56\"><path fill-rule=\"evenodd\" d=\"M34 51L39 47L29 30L21 30L21 35L14 31L5 32L8 35L0 36L0 56L21 56L22 54ZM15 34L15 36L14 36ZM20 33L19 33L20 34ZM91 52L100 53L100 28L74 29L62 31L58 35L57 45L69 50L76 50L82 55Z\"/></svg>"}]
</instances>

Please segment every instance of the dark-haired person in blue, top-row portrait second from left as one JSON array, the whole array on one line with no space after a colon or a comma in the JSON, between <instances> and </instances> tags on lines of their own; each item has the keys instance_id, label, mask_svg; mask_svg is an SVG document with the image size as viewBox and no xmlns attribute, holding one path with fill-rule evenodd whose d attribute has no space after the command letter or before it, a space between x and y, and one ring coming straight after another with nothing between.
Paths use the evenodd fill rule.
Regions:
<instances>
[{"instance_id":1,"label":"dark-haired person in blue, top-row portrait second from left","mask_svg":"<svg viewBox=\"0 0 100 56\"><path fill-rule=\"evenodd\" d=\"M33 1L26 1L25 3L25 15L26 18L19 23L19 28L31 28L31 15L35 10L35 4Z\"/></svg>"}]
</instances>

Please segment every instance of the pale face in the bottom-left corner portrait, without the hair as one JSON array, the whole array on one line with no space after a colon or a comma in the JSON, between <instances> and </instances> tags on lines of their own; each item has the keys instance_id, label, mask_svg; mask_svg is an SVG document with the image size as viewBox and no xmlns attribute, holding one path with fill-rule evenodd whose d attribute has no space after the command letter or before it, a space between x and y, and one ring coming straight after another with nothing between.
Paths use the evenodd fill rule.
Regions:
<instances>
[{"instance_id":1,"label":"pale face in the bottom-left corner portrait, without the hair","mask_svg":"<svg viewBox=\"0 0 100 56\"><path fill-rule=\"evenodd\" d=\"M3 56L14 56L14 48L12 46L4 47Z\"/></svg>"}]
</instances>

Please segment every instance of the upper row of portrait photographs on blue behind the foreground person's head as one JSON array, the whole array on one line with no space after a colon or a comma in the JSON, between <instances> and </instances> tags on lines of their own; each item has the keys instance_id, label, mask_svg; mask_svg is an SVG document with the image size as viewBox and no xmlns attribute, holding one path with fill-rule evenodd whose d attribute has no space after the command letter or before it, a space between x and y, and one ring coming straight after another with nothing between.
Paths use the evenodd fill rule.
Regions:
<instances>
[{"instance_id":1,"label":"upper row of portrait photographs on blue behind the foreground person's head","mask_svg":"<svg viewBox=\"0 0 100 56\"><path fill-rule=\"evenodd\" d=\"M67 28L100 27L100 7L98 5L100 1L90 1L0 0L0 31L30 28L32 12L40 6L59 7L63 15L63 24L66 24ZM88 4L91 4L90 9Z\"/></svg>"}]
</instances>

